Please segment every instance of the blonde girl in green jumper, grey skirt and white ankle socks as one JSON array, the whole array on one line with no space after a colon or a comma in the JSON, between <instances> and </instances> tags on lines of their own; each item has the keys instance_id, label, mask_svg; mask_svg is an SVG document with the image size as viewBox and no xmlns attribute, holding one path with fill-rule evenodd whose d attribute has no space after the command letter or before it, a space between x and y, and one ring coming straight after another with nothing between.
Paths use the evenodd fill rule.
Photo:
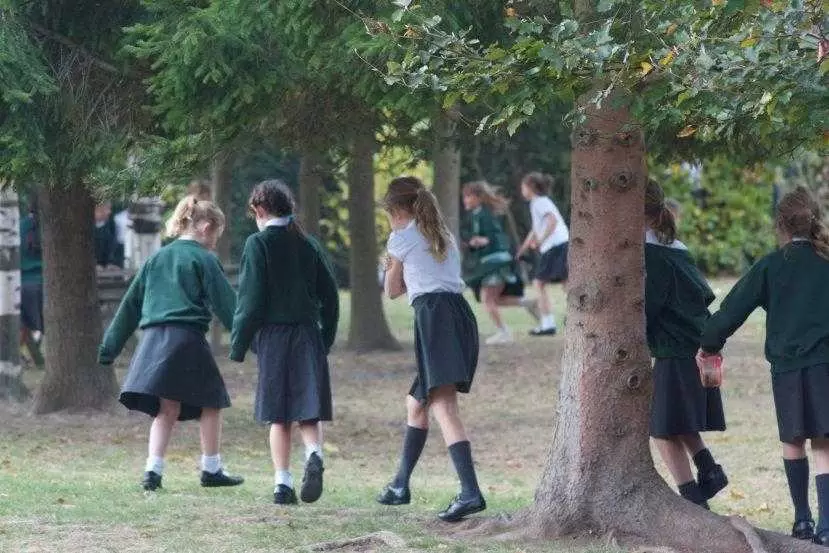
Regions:
<instances>
[{"instance_id":1,"label":"blonde girl in green jumper, grey skirt and white ankle socks","mask_svg":"<svg viewBox=\"0 0 829 553\"><path fill-rule=\"evenodd\" d=\"M210 251L224 227L224 214L213 203L193 196L181 200L167 223L176 239L135 276L100 347L99 361L112 364L135 329L143 330L120 401L153 417L142 482L148 491L161 487L176 421L192 419L201 428L201 485L243 482L222 467L221 410L230 407L230 397L205 339L211 311L230 329L236 306L236 294Z\"/></svg>"}]
</instances>

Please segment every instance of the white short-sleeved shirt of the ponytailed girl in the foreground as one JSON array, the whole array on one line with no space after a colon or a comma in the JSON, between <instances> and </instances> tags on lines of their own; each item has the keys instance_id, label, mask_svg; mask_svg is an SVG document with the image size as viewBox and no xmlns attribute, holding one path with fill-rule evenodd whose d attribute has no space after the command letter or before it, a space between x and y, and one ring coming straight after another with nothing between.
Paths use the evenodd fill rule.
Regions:
<instances>
[{"instance_id":1,"label":"white short-sleeved shirt of the ponytailed girl in the foreground","mask_svg":"<svg viewBox=\"0 0 829 553\"><path fill-rule=\"evenodd\" d=\"M406 283L409 304L430 292L460 294L463 291L461 256L454 238L446 259L438 261L429 252L429 242L412 221L406 228L391 233L386 249L390 256L403 263L403 282Z\"/></svg>"}]
</instances>

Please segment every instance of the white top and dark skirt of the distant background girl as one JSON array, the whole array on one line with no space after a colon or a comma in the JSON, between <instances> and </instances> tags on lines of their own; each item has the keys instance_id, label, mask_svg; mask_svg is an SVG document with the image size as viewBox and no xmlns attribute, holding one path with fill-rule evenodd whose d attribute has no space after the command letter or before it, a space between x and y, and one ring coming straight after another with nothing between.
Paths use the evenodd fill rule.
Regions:
<instances>
[{"instance_id":1,"label":"white top and dark skirt of the distant background girl","mask_svg":"<svg viewBox=\"0 0 829 553\"><path fill-rule=\"evenodd\" d=\"M535 236L543 236L547 229L545 218L552 215L556 228L538 246L538 258L533 270L533 279L542 282L564 282L567 280L567 250L570 231L556 205L547 196L536 196L530 200L530 217Z\"/></svg>"}]
</instances>

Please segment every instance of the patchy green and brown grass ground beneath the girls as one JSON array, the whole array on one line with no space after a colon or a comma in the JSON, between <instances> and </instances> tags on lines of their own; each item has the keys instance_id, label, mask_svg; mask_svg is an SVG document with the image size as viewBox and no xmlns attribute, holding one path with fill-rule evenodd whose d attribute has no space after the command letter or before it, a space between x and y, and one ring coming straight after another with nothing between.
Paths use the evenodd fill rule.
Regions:
<instances>
[{"instance_id":1,"label":"patchy green and brown grass ground beneath the girls","mask_svg":"<svg viewBox=\"0 0 829 553\"><path fill-rule=\"evenodd\" d=\"M718 294L730 285L715 284ZM343 294L343 339L347 300ZM561 310L560 291L555 302ZM0 551L310 551L320 542L381 530L402 538L405 547L358 544L334 550L611 551L601 545L454 539L434 522L456 486L437 428L413 478L412 505L388 508L374 502L396 465L405 416L402 400L414 363L410 309L398 301L387 304L387 314L404 351L332 354L336 420L326 427L326 490L310 506L271 504L267 432L252 416L253 360L223 364L234 402L225 412L223 457L232 472L247 479L233 489L199 486L196 424L177 428L164 490L145 494L138 486L146 457L145 416L118 408L109 414L33 417L28 405L0 404ZM462 399L488 514L514 511L532 500L552 436L563 345L560 336L524 337L531 322L521 310L507 317L519 341L482 350L473 393ZM492 326L483 315L479 320L485 336ZM708 443L732 485L712 507L788 531L792 512L762 358L762 323L760 315L752 316L726 351L729 430L709 436ZM119 378L123 371L119 366ZM36 386L39 374L26 377ZM297 479L300 449L295 451Z\"/></svg>"}]
</instances>

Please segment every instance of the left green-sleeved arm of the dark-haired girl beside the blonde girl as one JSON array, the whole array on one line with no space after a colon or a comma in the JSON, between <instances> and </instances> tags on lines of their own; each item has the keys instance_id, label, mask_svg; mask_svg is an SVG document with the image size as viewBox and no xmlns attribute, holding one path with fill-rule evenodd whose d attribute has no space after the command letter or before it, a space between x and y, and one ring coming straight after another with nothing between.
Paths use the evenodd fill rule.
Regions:
<instances>
[{"instance_id":1,"label":"left green-sleeved arm of the dark-haired girl beside the blonde girl","mask_svg":"<svg viewBox=\"0 0 829 553\"><path fill-rule=\"evenodd\" d=\"M239 267L239 294L230 333L230 359L233 361L245 360L253 337L262 326L266 280L265 252L254 235L245 242Z\"/></svg>"}]
</instances>

